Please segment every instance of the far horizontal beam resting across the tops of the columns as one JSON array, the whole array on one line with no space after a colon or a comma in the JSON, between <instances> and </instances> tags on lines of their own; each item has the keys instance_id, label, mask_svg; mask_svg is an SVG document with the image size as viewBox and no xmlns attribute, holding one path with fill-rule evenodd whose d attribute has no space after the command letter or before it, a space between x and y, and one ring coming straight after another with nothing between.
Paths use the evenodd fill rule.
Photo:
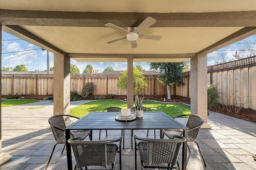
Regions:
<instances>
[{"instance_id":1,"label":"far horizontal beam resting across the tops of the columns","mask_svg":"<svg viewBox=\"0 0 256 170\"><path fill-rule=\"evenodd\" d=\"M92 53L67 53L70 58L127 58L134 59L170 59L170 58L190 58L194 53L187 54L92 54Z\"/></svg>"}]
</instances>

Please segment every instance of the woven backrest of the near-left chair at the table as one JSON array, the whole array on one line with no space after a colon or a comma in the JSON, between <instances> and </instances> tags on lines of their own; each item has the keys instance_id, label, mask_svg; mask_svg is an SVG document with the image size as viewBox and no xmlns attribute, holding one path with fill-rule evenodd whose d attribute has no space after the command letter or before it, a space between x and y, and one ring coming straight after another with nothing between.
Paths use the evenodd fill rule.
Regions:
<instances>
[{"instance_id":1,"label":"woven backrest of the near-left chair at the table","mask_svg":"<svg viewBox=\"0 0 256 170\"><path fill-rule=\"evenodd\" d=\"M107 151L106 143L121 141L122 137L119 139L110 140L110 141L79 141L76 139L77 138L69 139L68 143L70 143L70 145L72 146L74 157L76 159L77 169L80 169L84 166L104 166L105 168L108 168L109 165L107 161L107 152L110 152L110 151ZM116 152L117 152L118 146L116 144L112 144L112 145L116 146ZM116 153L113 152L112 154L116 154ZM114 156L114 158L116 157L116 155L112 155L112 156Z\"/></svg>"}]
</instances>

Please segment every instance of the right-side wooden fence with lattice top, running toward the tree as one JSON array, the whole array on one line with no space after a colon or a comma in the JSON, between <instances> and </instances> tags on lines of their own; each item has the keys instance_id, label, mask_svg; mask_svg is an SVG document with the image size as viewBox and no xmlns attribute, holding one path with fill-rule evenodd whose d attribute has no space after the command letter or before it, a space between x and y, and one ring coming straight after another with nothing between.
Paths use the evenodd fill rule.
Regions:
<instances>
[{"instance_id":1,"label":"right-side wooden fence with lattice top, running toward the tree","mask_svg":"<svg viewBox=\"0 0 256 170\"><path fill-rule=\"evenodd\" d=\"M256 56L208 66L208 84L220 92L220 103L256 110ZM190 72L184 73L184 86L174 94L190 98Z\"/></svg>"}]
</instances>

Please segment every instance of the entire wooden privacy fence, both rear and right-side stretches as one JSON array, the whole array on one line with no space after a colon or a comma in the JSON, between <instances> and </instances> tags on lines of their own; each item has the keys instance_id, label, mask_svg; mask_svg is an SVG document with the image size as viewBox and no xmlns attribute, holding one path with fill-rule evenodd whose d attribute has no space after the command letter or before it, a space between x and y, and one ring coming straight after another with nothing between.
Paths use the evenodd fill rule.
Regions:
<instances>
[{"instance_id":1,"label":"entire wooden privacy fence, both rear and right-side stretches","mask_svg":"<svg viewBox=\"0 0 256 170\"><path fill-rule=\"evenodd\" d=\"M94 83L94 96L112 93L127 95L117 87L120 75L71 75L70 91L81 94L87 82ZM167 88L158 75L144 75L148 87L146 96L167 96ZM185 85L174 86L171 94L190 98L190 72L183 74ZM215 84L220 92L220 103L256 110L256 57L249 57L208 67L208 84ZM2 74L2 95L53 95L53 74Z\"/></svg>"}]
</instances>

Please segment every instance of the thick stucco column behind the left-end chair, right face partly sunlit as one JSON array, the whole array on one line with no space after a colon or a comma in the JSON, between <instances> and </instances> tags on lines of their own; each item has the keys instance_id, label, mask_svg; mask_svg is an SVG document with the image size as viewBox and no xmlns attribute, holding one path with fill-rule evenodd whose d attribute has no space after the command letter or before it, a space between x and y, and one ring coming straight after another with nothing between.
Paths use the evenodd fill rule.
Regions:
<instances>
[{"instance_id":1,"label":"thick stucco column behind the left-end chair, right face partly sunlit","mask_svg":"<svg viewBox=\"0 0 256 170\"><path fill-rule=\"evenodd\" d=\"M70 113L70 58L54 54L53 114Z\"/></svg>"}]
</instances>

